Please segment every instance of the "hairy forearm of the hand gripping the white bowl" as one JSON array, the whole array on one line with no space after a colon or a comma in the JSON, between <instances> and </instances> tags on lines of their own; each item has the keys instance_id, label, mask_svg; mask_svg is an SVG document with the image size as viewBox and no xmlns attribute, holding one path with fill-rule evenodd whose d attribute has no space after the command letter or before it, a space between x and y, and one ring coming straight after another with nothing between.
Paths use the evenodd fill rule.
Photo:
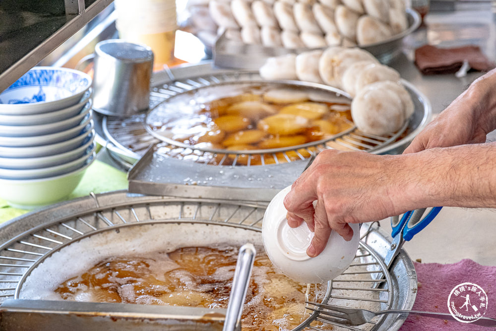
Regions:
<instances>
[{"instance_id":1,"label":"hairy forearm of the hand gripping the white bowl","mask_svg":"<svg viewBox=\"0 0 496 331\"><path fill-rule=\"evenodd\" d=\"M393 193L399 209L496 207L496 143L432 148L396 162L406 183Z\"/></svg>"}]
</instances>

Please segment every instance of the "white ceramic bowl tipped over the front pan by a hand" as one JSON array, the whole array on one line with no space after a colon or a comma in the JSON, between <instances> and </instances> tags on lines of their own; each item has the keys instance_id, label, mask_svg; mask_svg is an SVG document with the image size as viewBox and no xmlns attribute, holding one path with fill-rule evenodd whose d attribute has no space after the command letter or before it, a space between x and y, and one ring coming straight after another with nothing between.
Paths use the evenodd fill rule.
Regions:
<instances>
[{"instance_id":1,"label":"white ceramic bowl tipped over the front pan by a hand","mask_svg":"<svg viewBox=\"0 0 496 331\"><path fill-rule=\"evenodd\" d=\"M313 233L307 223L293 229L286 220L283 201L289 191L291 187L279 192L265 210L262 240L267 256L282 273L299 282L322 283L339 276L357 254L360 227L350 224L354 232L351 241L345 241L337 232L331 231L324 251L310 258L306 252Z\"/></svg>"}]
</instances>

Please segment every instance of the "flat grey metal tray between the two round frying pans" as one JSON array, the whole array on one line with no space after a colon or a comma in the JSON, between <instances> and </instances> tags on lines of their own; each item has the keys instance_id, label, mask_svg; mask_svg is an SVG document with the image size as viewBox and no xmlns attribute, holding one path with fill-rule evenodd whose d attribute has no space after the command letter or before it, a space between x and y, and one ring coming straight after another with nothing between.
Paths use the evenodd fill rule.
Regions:
<instances>
[{"instance_id":1,"label":"flat grey metal tray between the two round frying pans","mask_svg":"<svg viewBox=\"0 0 496 331\"><path fill-rule=\"evenodd\" d=\"M128 171L128 190L155 196L171 196L174 192L176 197L269 201L291 185L308 163L301 160L266 167L243 167L240 171L239 167L212 167L166 158L156 153L152 146ZM212 191L209 187L229 188L229 197L224 198L222 190ZM221 196L212 196L212 193Z\"/></svg>"}]
</instances>

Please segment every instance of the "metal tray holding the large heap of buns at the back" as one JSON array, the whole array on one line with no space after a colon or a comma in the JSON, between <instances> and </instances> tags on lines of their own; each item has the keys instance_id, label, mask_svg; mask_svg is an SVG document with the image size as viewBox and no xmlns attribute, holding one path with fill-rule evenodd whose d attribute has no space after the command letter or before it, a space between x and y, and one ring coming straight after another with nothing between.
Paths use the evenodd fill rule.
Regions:
<instances>
[{"instance_id":1,"label":"metal tray holding the large heap of buns at the back","mask_svg":"<svg viewBox=\"0 0 496 331\"><path fill-rule=\"evenodd\" d=\"M408 28L384 41L369 45L358 46L377 58L381 63L387 64L401 53L403 38L417 30L420 26L420 15L414 9L407 9ZM279 55L309 51L308 48L285 49L282 47L264 47L261 45L244 44L240 41L229 40L225 33L219 36L215 43L213 55L215 66L224 68L238 68L245 70L258 70L267 58Z\"/></svg>"}]
</instances>

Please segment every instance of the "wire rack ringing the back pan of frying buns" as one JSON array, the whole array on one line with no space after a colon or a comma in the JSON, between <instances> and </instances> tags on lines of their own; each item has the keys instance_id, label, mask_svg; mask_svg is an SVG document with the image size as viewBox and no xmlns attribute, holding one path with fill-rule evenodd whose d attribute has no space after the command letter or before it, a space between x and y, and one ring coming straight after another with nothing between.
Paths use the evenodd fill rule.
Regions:
<instances>
[{"instance_id":1,"label":"wire rack ringing the back pan of frying buns","mask_svg":"<svg viewBox=\"0 0 496 331\"><path fill-rule=\"evenodd\" d=\"M169 84L155 86L151 89L150 109L153 109L172 96L193 89L226 82L257 80L261 80L258 72L247 71L226 72L176 80ZM408 127L408 123L406 123L398 132L385 136L368 134L356 128L350 128L331 138L309 142L303 145L267 149L264 151L222 152L209 148L185 146L185 144L180 142L161 141L145 130L143 125L145 116L146 114L138 114L125 119L104 117L102 126L107 139L116 147L135 153L138 156L143 155L151 144L156 144L157 152L168 157L211 165L234 166L251 166L255 164L263 166L266 164L294 162L307 159L311 154L316 154L326 149L372 152L396 141Z\"/></svg>"}]
</instances>

